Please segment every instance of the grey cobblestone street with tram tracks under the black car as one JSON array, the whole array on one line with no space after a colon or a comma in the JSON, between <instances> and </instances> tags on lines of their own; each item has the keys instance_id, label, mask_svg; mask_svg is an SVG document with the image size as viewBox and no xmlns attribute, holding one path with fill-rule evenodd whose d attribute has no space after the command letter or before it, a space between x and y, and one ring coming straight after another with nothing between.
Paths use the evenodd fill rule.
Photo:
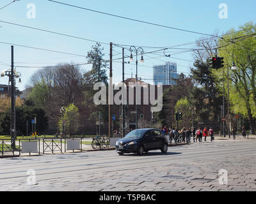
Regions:
<instances>
[{"instance_id":1,"label":"grey cobblestone street with tram tracks under the black car","mask_svg":"<svg viewBox=\"0 0 256 204\"><path fill-rule=\"evenodd\" d=\"M114 150L1 159L1 191L256 191L256 140L118 156ZM36 184L27 182L35 170ZM227 170L227 184L219 182Z\"/></svg>"}]
</instances>

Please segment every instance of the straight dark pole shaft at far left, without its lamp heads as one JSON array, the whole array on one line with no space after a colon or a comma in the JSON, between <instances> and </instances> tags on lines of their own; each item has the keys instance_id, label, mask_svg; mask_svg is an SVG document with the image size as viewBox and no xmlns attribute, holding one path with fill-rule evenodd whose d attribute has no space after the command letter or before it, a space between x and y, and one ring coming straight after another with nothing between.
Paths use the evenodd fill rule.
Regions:
<instances>
[{"instance_id":1,"label":"straight dark pole shaft at far left, without its lamp heads","mask_svg":"<svg viewBox=\"0 0 256 204\"><path fill-rule=\"evenodd\" d=\"M11 104L12 104L12 110L11 110L11 140L12 140L12 148L15 149L15 137L16 137L16 126L15 126L15 73L14 73L14 61L13 61L13 46L12 46L12 69L11 69L11 91L12 91L12 97L11 97Z\"/></svg>"}]
</instances>

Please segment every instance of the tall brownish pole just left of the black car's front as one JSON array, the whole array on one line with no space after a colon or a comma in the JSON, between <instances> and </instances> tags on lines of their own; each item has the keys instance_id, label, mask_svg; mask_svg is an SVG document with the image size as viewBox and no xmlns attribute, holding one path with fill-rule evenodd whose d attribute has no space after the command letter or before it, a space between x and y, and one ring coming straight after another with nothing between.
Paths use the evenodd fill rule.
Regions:
<instances>
[{"instance_id":1,"label":"tall brownish pole just left of the black car's front","mask_svg":"<svg viewBox=\"0 0 256 204\"><path fill-rule=\"evenodd\" d=\"M113 73L112 73L112 56L113 55L113 43L110 43L110 52L109 52L109 91L108 91L108 133L109 133L109 142L110 138L113 135L112 124L113 124L113 113L112 113L112 104L113 104Z\"/></svg>"}]
</instances>

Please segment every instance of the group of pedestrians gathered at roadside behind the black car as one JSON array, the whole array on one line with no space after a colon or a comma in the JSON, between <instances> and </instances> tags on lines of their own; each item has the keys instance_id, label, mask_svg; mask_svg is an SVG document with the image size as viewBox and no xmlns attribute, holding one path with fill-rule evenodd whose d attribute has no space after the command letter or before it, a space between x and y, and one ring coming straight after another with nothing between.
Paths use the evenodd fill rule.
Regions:
<instances>
[{"instance_id":1,"label":"group of pedestrians gathered at roadside behind the black car","mask_svg":"<svg viewBox=\"0 0 256 204\"><path fill-rule=\"evenodd\" d=\"M177 143L191 143L191 137L193 136L193 142L202 142L202 137L204 136L204 141L206 142L207 136L211 136L211 142L214 140L214 131L212 128L207 130L205 127L203 130L201 128L182 128L177 131L177 129L172 128L169 131L170 143L172 140ZM166 135L166 134L165 134ZM179 141L180 140L180 141Z\"/></svg>"}]
</instances>

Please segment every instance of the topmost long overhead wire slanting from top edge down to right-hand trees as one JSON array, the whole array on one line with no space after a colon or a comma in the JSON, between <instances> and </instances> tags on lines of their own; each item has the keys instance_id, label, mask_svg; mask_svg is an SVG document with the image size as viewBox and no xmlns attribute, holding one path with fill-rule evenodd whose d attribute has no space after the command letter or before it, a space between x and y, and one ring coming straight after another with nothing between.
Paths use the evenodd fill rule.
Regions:
<instances>
[{"instance_id":1,"label":"topmost long overhead wire slanting from top edge down to right-hand trees","mask_svg":"<svg viewBox=\"0 0 256 204\"><path fill-rule=\"evenodd\" d=\"M183 32L187 32L187 33L201 34L201 35L204 35L204 36L212 36L212 37L221 38L219 36L214 36L212 34L205 34L205 33L200 33L200 32L196 32L196 31L189 31L189 30L186 30L186 29L179 29L177 27L170 27L168 25L161 25L161 24L156 24L156 23L152 23L152 22L146 22L146 21L143 21L143 20L135 19L135 18L122 17L120 15L115 15L115 14L112 14L112 13L106 13L106 12L102 12L102 11L96 11L96 10L92 10L92 9L89 9L89 8L84 8L84 7L81 7L81 6L76 6L76 5L72 5L72 4L62 3L60 1L53 1L53 0L47 0L47 1L51 1L53 3L58 3L58 4L63 4L65 6L71 6L71 7L74 7L74 8L79 8L79 9L82 9L82 10L92 11L92 12L95 12L95 13L109 15L109 16L112 16L112 17L123 18L123 19L126 19L126 20L132 20L132 21L135 21L135 22L143 23L143 24L156 25L158 27L165 27L165 28L174 29L174 30L177 30L177 31L183 31Z\"/></svg>"}]
</instances>

